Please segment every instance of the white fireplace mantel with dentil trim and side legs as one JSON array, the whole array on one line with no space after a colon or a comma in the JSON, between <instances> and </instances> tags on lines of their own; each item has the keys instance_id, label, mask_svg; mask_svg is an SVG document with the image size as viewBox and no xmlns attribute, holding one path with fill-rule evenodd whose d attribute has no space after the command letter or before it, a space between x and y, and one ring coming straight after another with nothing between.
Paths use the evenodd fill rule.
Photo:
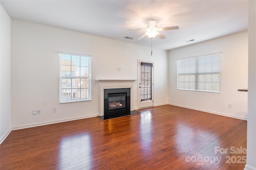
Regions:
<instances>
[{"instance_id":1,"label":"white fireplace mantel with dentil trim and side legs","mask_svg":"<svg viewBox=\"0 0 256 170\"><path fill-rule=\"evenodd\" d=\"M134 81L136 80L98 80L99 85L99 116L104 116L104 89L130 88L130 110L134 110Z\"/></svg>"}]
</instances>

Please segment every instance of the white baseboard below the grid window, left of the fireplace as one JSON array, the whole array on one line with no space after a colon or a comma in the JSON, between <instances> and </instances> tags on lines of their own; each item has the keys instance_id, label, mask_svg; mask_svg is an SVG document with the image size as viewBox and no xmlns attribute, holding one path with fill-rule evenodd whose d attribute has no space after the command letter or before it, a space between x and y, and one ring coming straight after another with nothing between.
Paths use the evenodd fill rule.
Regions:
<instances>
[{"instance_id":1,"label":"white baseboard below the grid window, left of the fireplace","mask_svg":"<svg viewBox=\"0 0 256 170\"><path fill-rule=\"evenodd\" d=\"M23 129L23 128L31 128L31 127L38 127L38 126L50 125L50 124L54 124L54 123L62 123L62 122L68 122L68 121L75 121L75 120L79 120L79 119L85 119L85 118L97 117L97 116L98 116L98 114L82 116L82 117L73 117L73 118L69 118L69 119L61 119L61 120L50 121L50 122L35 123L35 124L30 124L30 125L23 125L23 126L13 127L12 130L18 130L18 129Z\"/></svg>"}]
</instances>

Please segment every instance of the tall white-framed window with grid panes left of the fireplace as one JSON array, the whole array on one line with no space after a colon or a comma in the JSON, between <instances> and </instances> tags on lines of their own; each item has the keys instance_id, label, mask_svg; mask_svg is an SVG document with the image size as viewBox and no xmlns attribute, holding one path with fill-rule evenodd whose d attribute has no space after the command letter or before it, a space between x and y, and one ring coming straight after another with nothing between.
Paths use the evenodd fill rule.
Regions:
<instances>
[{"instance_id":1,"label":"tall white-framed window with grid panes left of the fireplace","mask_svg":"<svg viewBox=\"0 0 256 170\"><path fill-rule=\"evenodd\" d=\"M60 103L91 100L91 57L59 55Z\"/></svg>"}]
</instances>

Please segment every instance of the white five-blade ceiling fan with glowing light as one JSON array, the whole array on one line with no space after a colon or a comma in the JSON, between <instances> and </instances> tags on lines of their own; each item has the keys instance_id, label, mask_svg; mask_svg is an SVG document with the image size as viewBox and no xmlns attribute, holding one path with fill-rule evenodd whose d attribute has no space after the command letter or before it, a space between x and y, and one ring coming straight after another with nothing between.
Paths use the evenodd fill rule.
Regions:
<instances>
[{"instance_id":1,"label":"white five-blade ceiling fan with glowing light","mask_svg":"<svg viewBox=\"0 0 256 170\"><path fill-rule=\"evenodd\" d=\"M151 39L154 38L155 36L158 36L161 39L165 39L166 37L160 34L159 31L178 30L178 29L179 29L178 26L158 28L156 26L155 20L149 20L149 25L147 26L146 30L128 30L128 31L146 31L146 33L143 36L138 38L138 40L141 40L145 36L148 36Z\"/></svg>"}]
</instances>

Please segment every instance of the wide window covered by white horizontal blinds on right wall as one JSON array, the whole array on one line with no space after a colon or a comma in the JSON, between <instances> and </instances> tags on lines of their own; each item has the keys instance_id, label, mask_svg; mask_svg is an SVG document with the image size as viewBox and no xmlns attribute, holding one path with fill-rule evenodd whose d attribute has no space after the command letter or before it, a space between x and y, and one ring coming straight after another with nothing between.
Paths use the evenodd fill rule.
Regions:
<instances>
[{"instance_id":1,"label":"wide window covered by white horizontal blinds on right wall","mask_svg":"<svg viewBox=\"0 0 256 170\"><path fill-rule=\"evenodd\" d=\"M220 53L178 59L177 89L220 93Z\"/></svg>"}]
</instances>

